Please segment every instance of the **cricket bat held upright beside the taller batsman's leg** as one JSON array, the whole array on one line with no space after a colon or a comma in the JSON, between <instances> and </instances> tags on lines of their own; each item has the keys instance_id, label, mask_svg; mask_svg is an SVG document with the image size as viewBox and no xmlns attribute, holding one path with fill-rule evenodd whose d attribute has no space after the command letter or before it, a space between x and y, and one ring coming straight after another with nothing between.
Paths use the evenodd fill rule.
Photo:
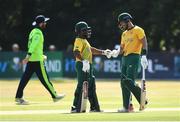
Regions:
<instances>
[{"instance_id":1,"label":"cricket bat held upright beside the taller batsman's leg","mask_svg":"<svg viewBox=\"0 0 180 122\"><path fill-rule=\"evenodd\" d=\"M141 100L140 100L140 108L139 108L140 111L145 109L145 102L146 102L146 80L145 80L145 69L142 68Z\"/></svg>"}]
</instances>

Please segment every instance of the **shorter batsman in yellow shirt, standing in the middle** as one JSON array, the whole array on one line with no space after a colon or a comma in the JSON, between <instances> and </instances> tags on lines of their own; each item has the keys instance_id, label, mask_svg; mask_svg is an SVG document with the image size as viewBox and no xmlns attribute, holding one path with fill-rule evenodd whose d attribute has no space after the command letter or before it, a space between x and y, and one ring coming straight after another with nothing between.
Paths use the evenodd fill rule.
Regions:
<instances>
[{"instance_id":1,"label":"shorter batsman in yellow shirt, standing in the middle","mask_svg":"<svg viewBox=\"0 0 180 122\"><path fill-rule=\"evenodd\" d=\"M100 50L95 47L91 47L88 38L91 37L91 27L86 22L80 21L75 25L76 39L74 42L74 56L76 58L76 72L78 84L74 93L73 106L71 108L72 113L80 112L81 95L83 81L88 81L88 99L90 102L90 112L101 112L96 94L95 77L93 75L92 67L92 55L106 55L111 57L110 50ZM88 79L86 79L86 73Z\"/></svg>"}]
</instances>

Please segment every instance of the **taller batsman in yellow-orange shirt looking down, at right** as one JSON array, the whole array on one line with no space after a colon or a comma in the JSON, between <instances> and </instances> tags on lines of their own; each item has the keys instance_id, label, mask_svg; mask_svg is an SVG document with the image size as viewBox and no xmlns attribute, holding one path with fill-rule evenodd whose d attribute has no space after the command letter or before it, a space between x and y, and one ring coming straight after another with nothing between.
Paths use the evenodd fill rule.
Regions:
<instances>
[{"instance_id":1,"label":"taller batsman in yellow-orange shirt looking down, at right","mask_svg":"<svg viewBox=\"0 0 180 122\"><path fill-rule=\"evenodd\" d=\"M138 67L141 64L146 69L148 66L147 40L144 30L132 23L132 16L129 13L121 13L118 16L118 27L124 31L121 35L121 46L118 50L112 51L112 56L122 54L121 88L123 96L123 109L118 112L131 112L131 92L140 103L141 88L136 85L135 78L138 75ZM142 56L141 56L142 54ZM147 104L147 101L146 101Z\"/></svg>"}]
</instances>

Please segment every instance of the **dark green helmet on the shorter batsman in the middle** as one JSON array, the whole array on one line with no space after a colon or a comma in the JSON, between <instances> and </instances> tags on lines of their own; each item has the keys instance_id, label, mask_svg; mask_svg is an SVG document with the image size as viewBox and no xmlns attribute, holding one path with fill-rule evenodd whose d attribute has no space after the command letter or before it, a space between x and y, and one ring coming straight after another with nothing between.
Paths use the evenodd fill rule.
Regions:
<instances>
[{"instance_id":1,"label":"dark green helmet on the shorter batsman in the middle","mask_svg":"<svg viewBox=\"0 0 180 122\"><path fill-rule=\"evenodd\" d=\"M84 21L80 21L75 25L75 33L78 36L82 36L84 38L91 37L91 27Z\"/></svg>"}]
</instances>

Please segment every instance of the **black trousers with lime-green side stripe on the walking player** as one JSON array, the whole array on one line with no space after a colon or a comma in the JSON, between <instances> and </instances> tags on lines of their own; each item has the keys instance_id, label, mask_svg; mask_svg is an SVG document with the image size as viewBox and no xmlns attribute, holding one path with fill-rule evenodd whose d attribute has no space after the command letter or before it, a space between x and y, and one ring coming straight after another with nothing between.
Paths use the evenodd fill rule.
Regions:
<instances>
[{"instance_id":1,"label":"black trousers with lime-green side stripe on the walking player","mask_svg":"<svg viewBox=\"0 0 180 122\"><path fill-rule=\"evenodd\" d=\"M26 65L25 72L23 73L17 92L16 92L16 98L22 98L23 97L23 90L26 87L28 81L30 80L33 73L36 73L39 80L43 84L43 86L49 91L52 98L55 98L57 96L56 91L54 90L54 87L52 83L49 80L45 65L43 61L35 61L35 62L28 62Z\"/></svg>"}]
</instances>

